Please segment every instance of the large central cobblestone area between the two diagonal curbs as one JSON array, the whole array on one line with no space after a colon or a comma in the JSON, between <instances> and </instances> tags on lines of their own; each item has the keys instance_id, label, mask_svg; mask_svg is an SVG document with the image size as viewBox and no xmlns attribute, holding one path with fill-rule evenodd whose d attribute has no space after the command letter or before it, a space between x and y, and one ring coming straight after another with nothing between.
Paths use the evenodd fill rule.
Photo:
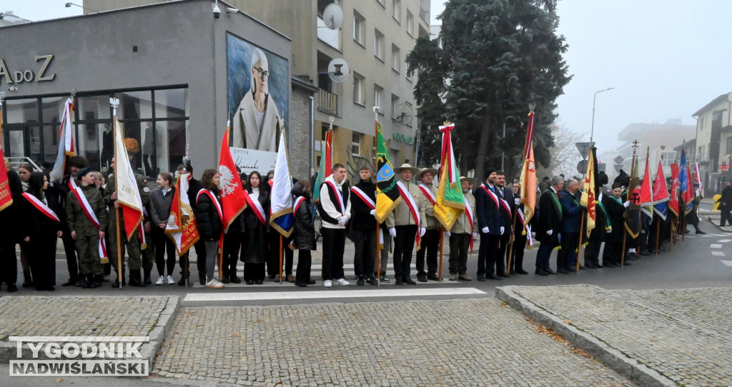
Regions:
<instances>
[{"instance_id":1,"label":"large central cobblestone area between the two diagonal curbs","mask_svg":"<svg viewBox=\"0 0 732 387\"><path fill-rule=\"evenodd\" d=\"M630 385L544 331L493 298L183 308L153 372L246 386Z\"/></svg>"}]
</instances>

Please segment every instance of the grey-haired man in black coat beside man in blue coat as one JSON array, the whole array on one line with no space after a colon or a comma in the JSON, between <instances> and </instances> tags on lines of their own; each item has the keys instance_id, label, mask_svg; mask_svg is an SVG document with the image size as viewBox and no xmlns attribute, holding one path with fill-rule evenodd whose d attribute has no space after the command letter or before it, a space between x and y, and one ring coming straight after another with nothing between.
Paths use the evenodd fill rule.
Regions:
<instances>
[{"instance_id":1,"label":"grey-haired man in black coat beside man in blue coat","mask_svg":"<svg viewBox=\"0 0 732 387\"><path fill-rule=\"evenodd\" d=\"M547 276L556 274L549 267L549 258L554 247L559 246L559 227L561 226L561 204L559 203L559 191L564 187L564 178L554 176L551 179L551 186L542 192L539 198L539 217L537 220L537 268L534 274Z\"/></svg>"}]
</instances>

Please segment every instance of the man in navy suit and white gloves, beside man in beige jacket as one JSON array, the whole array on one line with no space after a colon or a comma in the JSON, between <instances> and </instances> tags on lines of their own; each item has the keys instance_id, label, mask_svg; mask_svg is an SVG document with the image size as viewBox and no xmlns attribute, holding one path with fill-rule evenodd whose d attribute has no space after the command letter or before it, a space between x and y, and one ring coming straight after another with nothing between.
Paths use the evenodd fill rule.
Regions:
<instances>
[{"instance_id":1,"label":"man in navy suit and white gloves, beside man in beige jacket","mask_svg":"<svg viewBox=\"0 0 732 387\"><path fill-rule=\"evenodd\" d=\"M488 279L501 280L495 274L496 258L498 258L498 244L501 235L506 232L504 214L496 194L496 170L488 168L485 173L485 182L474 189L476 212L478 213L478 228L480 230L480 249L478 250L478 281ZM501 257L502 260L502 257Z\"/></svg>"}]
</instances>

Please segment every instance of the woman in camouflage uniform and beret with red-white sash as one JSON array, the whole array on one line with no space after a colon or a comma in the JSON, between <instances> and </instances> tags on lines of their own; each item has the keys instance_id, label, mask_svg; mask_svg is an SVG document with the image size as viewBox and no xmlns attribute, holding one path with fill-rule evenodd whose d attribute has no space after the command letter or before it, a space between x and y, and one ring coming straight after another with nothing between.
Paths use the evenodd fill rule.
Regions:
<instances>
[{"instance_id":1,"label":"woman in camouflage uniform and beret with red-white sash","mask_svg":"<svg viewBox=\"0 0 732 387\"><path fill-rule=\"evenodd\" d=\"M66 217L71 230L71 237L75 240L76 253L79 256L81 276L86 277L84 288L99 288L102 286L102 264L99 256L99 240L104 237L108 225L108 215L105 209L104 198L99 189L94 186L94 173L86 167L79 171L79 188L94 211L100 222L97 228L84 214L83 204L76 196L70 193L66 200Z\"/></svg>"}]
</instances>

